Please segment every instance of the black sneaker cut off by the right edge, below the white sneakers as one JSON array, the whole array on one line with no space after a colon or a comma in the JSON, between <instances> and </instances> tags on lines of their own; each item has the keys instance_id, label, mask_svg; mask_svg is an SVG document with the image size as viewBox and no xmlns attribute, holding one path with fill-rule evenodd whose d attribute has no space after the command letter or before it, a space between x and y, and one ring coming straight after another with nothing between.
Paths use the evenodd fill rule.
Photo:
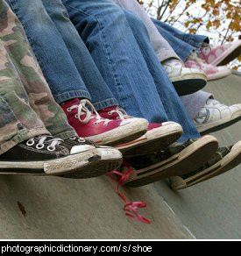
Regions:
<instances>
[{"instance_id":1,"label":"black sneaker cut off by the right edge, below the white sneakers","mask_svg":"<svg viewBox=\"0 0 241 256\"><path fill-rule=\"evenodd\" d=\"M180 190L228 172L241 163L241 141L234 146L221 147L201 168L182 176L169 178L171 188Z\"/></svg>"}]
</instances>

